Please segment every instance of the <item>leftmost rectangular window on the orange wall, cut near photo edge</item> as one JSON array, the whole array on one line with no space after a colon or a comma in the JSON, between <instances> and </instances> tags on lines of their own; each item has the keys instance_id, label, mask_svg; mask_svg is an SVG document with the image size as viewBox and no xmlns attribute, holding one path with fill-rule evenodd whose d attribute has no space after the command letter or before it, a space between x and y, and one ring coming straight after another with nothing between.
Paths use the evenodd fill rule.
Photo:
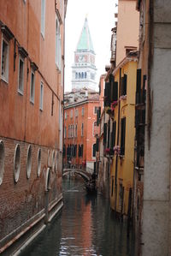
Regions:
<instances>
[{"instance_id":1,"label":"leftmost rectangular window on the orange wall, cut near photo edge","mask_svg":"<svg viewBox=\"0 0 171 256\"><path fill-rule=\"evenodd\" d=\"M1 77L9 82L9 43L3 39L1 51Z\"/></svg>"}]
</instances>

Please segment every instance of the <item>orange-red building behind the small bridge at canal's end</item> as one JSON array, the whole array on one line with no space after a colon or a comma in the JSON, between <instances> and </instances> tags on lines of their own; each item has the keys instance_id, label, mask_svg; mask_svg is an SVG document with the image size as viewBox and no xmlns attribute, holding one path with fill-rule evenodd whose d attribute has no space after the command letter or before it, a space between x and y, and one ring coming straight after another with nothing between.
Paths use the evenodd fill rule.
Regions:
<instances>
[{"instance_id":1,"label":"orange-red building behind the small bridge at canal's end","mask_svg":"<svg viewBox=\"0 0 171 256\"><path fill-rule=\"evenodd\" d=\"M63 149L65 167L86 167L91 172L94 170L99 98L99 94L91 90L65 94Z\"/></svg>"}]
</instances>

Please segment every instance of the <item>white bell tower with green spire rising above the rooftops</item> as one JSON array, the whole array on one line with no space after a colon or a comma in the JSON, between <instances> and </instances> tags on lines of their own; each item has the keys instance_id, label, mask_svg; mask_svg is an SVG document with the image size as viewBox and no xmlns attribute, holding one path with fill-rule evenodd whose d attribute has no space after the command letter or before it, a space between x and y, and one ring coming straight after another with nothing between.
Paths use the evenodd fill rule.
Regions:
<instances>
[{"instance_id":1,"label":"white bell tower with green spire rising above the rooftops","mask_svg":"<svg viewBox=\"0 0 171 256\"><path fill-rule=\"evenodd\" d=\"M72 89L96 88L95 52L92 45L91 33L87 18L80 33L80 39L74 51L74 64L72 66Z\"/></svg>"}]
</instances>

